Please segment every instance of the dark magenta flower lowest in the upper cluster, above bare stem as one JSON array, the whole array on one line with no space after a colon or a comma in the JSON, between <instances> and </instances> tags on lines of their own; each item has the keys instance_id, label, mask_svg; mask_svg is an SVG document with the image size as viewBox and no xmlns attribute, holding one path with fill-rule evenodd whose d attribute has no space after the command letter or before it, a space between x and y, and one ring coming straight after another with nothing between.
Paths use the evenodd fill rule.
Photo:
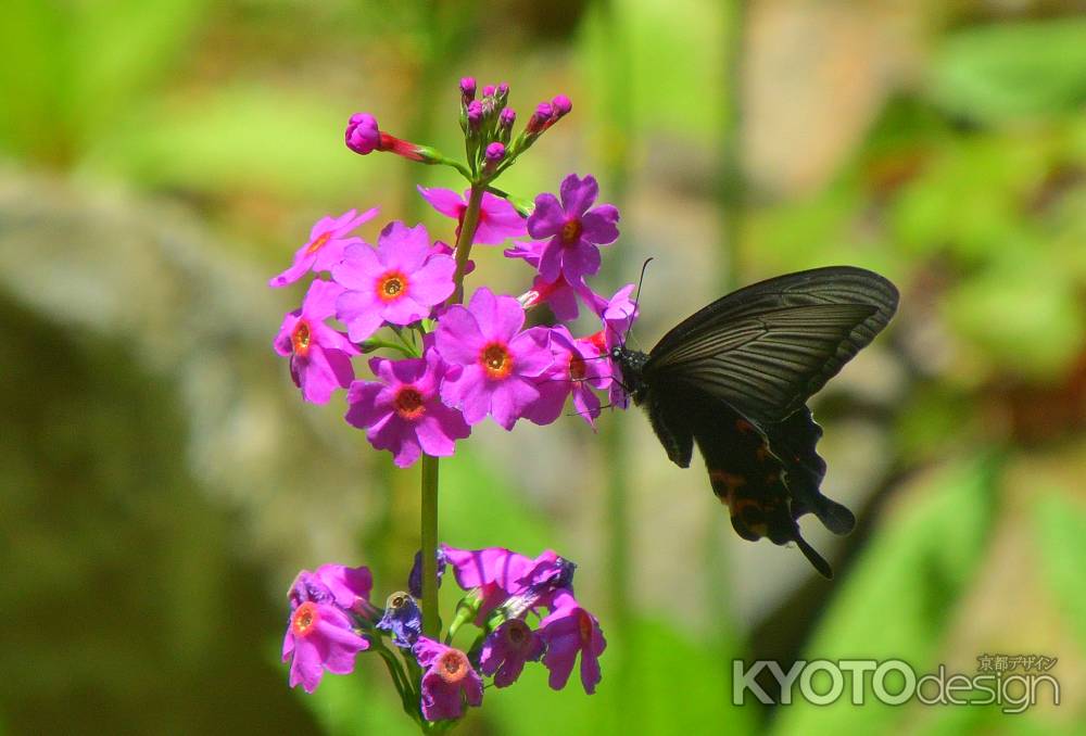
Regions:
<instances>
[{"instance_id":1,"label":"dark magenta flower lowest in the upper cluster, above bare stem","mask_svg":"<svg viewBox=\"0 0 1086 736\"><path fill-rule=\"evenodd\" d=\"M435 351L406 360L374 358L369 366L380 381L351 384L345 418L367 430L374 447L390 451L397 467L413 465L422 452L449 457L455 441L471 434L460 413L438 397L445 366Z\"/></svg>"}]
</instances>

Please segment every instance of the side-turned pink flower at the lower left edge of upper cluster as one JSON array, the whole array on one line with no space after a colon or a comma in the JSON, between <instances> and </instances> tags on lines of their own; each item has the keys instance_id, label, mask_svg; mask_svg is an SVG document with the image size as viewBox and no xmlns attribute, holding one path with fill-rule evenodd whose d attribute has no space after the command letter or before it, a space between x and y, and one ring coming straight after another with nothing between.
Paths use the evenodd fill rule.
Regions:
<instances>
[{"instance_id":1,"label":"side-turned pink flower at the lower left edge of upper cluster","mask_svg":"<svg viewBox=\"0 0 1086 736\"><path fill-rule=\"evenodd\" d=\"M345 389L354 380L351 356L358 348L342 332L325 325L332 316L336 300L343 288L316 279L302 302L302 308L288 313L275 339L275 351L290 356L290 376L302 390L302 398L327 404L336 389Z\"/></svg>"}]
</instances>

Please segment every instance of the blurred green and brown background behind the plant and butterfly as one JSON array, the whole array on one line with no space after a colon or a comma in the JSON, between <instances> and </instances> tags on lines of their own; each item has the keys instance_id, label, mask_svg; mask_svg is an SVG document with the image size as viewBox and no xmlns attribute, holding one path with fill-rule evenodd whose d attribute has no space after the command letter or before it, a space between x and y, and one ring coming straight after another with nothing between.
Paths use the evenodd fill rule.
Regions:
<instances>
[{"instance_id":1,"label":"blurred green and brown background behind the plant and butterfly","mask_svg":"<svg viewBox=\"0 0 1086 736\"><path fill-rule=\"evenodd\" d=\"M270 351L302 287L265 282L350 207L451 237L414 192L449 169L342 129L365 110L456 152L467 74L521 120L572 98L502 186L601 178L622 237L597 289L656 256L644 345L786 270L902 299L815 402L860 521L805 521L832 583L735 537L640 413L488 423L443 462L442 538L578 561L609 643L596 696L530 669L460 731L1086 732L1082 3L8 0L0 48L0 732L412 733L376 661L312 697L277 662L299 568L403 586L418 475L342 397L302 404ZM736 657L983 653L1058 657L1062 703L730 705Z\"/></svg>"}]
</instances>

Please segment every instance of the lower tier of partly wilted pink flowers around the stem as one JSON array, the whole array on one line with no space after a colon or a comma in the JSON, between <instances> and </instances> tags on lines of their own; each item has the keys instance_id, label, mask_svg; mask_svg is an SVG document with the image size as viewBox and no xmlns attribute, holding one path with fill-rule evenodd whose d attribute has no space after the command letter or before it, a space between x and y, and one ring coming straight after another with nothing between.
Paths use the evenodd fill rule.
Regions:
<instances>
[{"instance_id":1,"label":"lower tier of partly wilted pink flowers around the stem","mask_svg":"<svg viewBox=\"0 0 1086 736\"><path fill-rule=\"evenodd\" d=\"M541 662L551 687L561 689L580 657L581 684L595 691L607 643L573 595L577 566L552 550L530 558L501 547L442 545L439 582L446 567L465 595L440 640L422 635L419 555L408 589L389 595L383 609L370 602L372 575L365 567L325 564L299 573L282 646L290 685L312 693L326 670L349 674L358 652L375 651L405 711L426 722L459 719L466 707L482 703L484 677L508 687L529 662Z\"/></svg>"}]
</instances>

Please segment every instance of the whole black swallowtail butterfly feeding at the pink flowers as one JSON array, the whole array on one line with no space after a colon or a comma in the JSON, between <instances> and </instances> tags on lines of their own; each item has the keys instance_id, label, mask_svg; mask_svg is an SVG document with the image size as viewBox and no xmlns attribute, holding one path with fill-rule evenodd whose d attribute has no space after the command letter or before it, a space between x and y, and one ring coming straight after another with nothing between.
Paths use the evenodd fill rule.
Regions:
<instances>
[{"instance_id":1,"label":"whole black swallowtail butterfly feeding at the pink flowers","mask_svg":"<svg viewBox=\"0 0 1086 736\"><path fill-rule=\"evenodd\" d=\"M886 327L897 300L893 283L862 268L788 274L717 300L647 355L618 345L610 357L675 465L689 467L697 443L740 536L795 542L832 578L796 519L815 513L847 534L856 518L819 491L822 429L806 402Z\"/></svg>"}]
</instances>

